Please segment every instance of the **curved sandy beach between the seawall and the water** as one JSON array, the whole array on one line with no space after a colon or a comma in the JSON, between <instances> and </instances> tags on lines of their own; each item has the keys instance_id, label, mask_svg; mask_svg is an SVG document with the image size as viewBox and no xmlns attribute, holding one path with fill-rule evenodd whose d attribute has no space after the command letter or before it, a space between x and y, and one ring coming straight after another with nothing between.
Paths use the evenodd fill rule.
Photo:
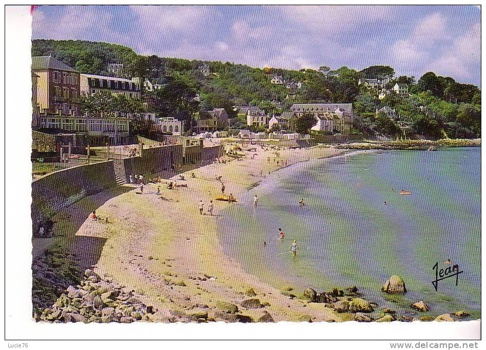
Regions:
<instances>
[{"instance_id":1,"label":"curved sandy beach between the seawall and the water","mask_svg":"<svg viewBox=\"0 0 486 350\"><path fill-rule=\"evenodd\" d=\"M332 147L280 149L279 157L275 157L275 151L243 146L238 151L244 154L240 159L226 156L226 164L213 163L183 173L185 180L177 180L177 184L187 187L175 190L166 189L165 183L149 183L142 195L138 186L126 184L84 198L53 218L54 238L49 243L65 245L84 260L85 267L94 264L100 276L143 295L144 302L158 310L152 317L154 321L184 320L201 311L221 320L218 302L235 304L242 315L254 320L264 312L275 321L349 320L350 315L335 313L324 304L290 299L266 281L246 273L222 252L217 235L220 211L241 204L214 201L221 195L217 177L221 176L226 186L225 194L238 198L285 164L345 152ZM161 195L156 194L158 186ZM198 210L200 200L205 204L204 215ZM210 200L214 203L213 216L207 213ZM108 217L109 223L87 220L88 213L95 209L99 216ZM40 245L34 244L34 255L36 249ZM267 305L265 308L240 306L250 298L246 295L248 288L256 294L251 298L259 299Z\"/></svg>"}]
</instances>

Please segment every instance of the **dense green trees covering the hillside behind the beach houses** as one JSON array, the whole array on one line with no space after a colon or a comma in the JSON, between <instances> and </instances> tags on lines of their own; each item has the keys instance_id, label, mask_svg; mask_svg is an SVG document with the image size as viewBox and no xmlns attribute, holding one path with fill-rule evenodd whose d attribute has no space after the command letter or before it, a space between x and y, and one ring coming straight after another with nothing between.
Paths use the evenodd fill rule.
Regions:
<instances>
[{"instance_id":1,"label":"dense green trees covering the hillside behind the beach houses","mask_svg":"<svg viewBox=\"0 0 486 350\"><path fill-rule=\"evenodd\" d=\"M433 72L415 76L401 75L389 66L371 66L361 71L348 67L331 70L321 66L319 71L299 71L246 65L206 62L211 73L204 76L198 66L202 61L170 57L142 56L121 45L88 41L33 40L32 55L53 55L82 73L110 75L108 63L123 63L127 77L149 79L162 88L144 91L146 108L161 116L173 116L193 124L199 110L225 108L230 115L230 127L240 128L245 121L238 118L234 106L258 105L267 113L278 114L294 103L353 103L356 115L353 128L367 134L401 137L400 123L410 126L410 135L437 138L477 138L481 131L481 91L470 84L460 84L451 77ZM286 83L301 82L301 89L289 89L286 84L270 82L273 75L281 75ZM379 89L359 85L359 80L385 79L385 88L396 83L407 84L409 94L387 94L378 99ZM199 95L199 99L196 99ZM200 100L200 101L198 101ZM89 102L86 101L86 102ZM119 101L119 109L132 110L139 106ZM138 102L136 103L138 104ZM388 106L396 111L395 118L377 115L376 110ZM92 106L86 105L86 110ZM104 105L110 110L112 107ZM95 107L96 109L96 107ZM146 134L150 126L135 121L132 130ZM302 129L306 128L303 125Z\"/></svg>"}]
</instances>

